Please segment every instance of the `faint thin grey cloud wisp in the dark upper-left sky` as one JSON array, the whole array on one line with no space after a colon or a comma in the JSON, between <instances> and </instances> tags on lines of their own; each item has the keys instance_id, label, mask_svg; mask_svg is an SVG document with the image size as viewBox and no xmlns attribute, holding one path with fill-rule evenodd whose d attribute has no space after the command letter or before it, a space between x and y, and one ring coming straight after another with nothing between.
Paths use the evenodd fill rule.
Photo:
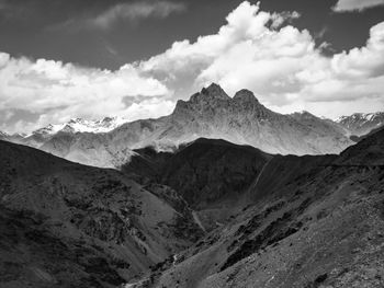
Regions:
<instances>
[{"instance_id":1,"label":"faint thin grey cloud wisp in the dark upper-left sky","mask_svg":"<svg viewBox=\"0 0 384 288\"><path fill-rule=\"evenodd\" d=\"M100 28L109 28L122 20L136 22L146 18L163 19L171 13L182 12L185 9L184 3L170 1L120 3L89 20L89 24Z\"/></svg>"}]
</instances>

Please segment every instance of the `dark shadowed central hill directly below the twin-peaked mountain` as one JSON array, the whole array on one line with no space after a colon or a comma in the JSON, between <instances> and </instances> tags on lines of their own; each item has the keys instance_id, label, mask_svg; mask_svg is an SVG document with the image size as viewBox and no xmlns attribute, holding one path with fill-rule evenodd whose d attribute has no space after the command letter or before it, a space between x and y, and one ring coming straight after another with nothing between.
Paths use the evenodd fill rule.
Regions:
<instances>
[{"instance_id":1,"label":"dark shadowed central hill directly below the twin-peaked mountain","mask_svg":"<svg viewBox=\"0 0 384 288\"><path fill-rule=\"evenodd\" d=\"M135 153L122 171L132 177L136 175L146 187L172 187L206 230L244 208L250 185L272 159L250 146L205 138L174 152L157 152L148 147Z\"/></svg>"}]
</instances>

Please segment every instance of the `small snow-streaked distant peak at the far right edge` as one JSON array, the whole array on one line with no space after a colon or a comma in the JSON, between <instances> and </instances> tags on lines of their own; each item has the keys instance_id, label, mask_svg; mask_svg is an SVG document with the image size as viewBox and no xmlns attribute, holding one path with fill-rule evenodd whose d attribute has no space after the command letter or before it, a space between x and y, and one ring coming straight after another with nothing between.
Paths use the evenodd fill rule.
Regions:
<instances>
[{"instance_id":1,"label":"small snow-streaked distant peak at the far right edge","mask_svg":"<svg viewBox=\"0 0 384 288\"><path fill-rule=\"evenodd\" d=\"M350 116L341 116L336 122L348 129L351 135L363 136L384 125L384 112L354 113Z\"/></svg>"}]
</instances>

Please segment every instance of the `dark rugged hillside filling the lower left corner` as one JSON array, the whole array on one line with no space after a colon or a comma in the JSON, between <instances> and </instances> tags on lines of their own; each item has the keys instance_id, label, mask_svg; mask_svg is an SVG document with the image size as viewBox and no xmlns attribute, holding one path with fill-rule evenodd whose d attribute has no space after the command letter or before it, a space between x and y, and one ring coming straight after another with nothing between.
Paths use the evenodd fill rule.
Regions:
<instances>
[{"instance_id":1,"label":"dark rugged hillside filling the lower left corner","mask_svg":"<svg viewBox=\"0 0 384 288\"><path fill-rule=\"evenodd\" d=\"M116 287L204 232L163 185L0 141L0 286Z\"/></svg>"}]
</instances>

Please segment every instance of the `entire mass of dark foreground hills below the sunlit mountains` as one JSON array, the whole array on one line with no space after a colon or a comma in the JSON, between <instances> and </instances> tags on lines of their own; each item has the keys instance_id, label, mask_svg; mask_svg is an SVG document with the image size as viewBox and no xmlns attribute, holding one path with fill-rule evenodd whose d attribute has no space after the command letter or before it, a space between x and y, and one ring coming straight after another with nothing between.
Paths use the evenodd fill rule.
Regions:
<instances>
[{"instance_id":1,"label":"entire mass of dark foreground hills below the sunlit mountains","mask_svg":"<svg viewBox=\"0 0 384 288\"><path fill-rule=\"evenodd\" d=\"M133 153L117 171L0 141L1 287L384 285L384 129L340 154Z\"/></svg>"}]
</instances>

